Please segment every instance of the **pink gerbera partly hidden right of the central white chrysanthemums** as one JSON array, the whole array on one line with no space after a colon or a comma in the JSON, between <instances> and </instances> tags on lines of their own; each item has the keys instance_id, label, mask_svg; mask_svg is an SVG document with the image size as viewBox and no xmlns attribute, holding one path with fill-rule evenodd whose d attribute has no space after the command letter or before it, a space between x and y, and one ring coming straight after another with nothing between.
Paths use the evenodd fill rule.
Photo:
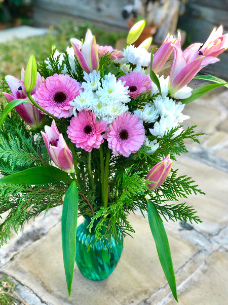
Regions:
<instances>
[{"instance_id":1,"label":"pink gerbera partly hidden right of the central white chrysanthemums","mask_svg":"<svg viewBox=\"0 0 228 305\"><path fill-rule=\"evenodd\" d=\"M126 74L125 76L121 76L119 79L125 82L125 87L129 87L129 96L132 99L136 99L140 93L144 93L151 89L151 79L143 75L139 72L132 72L130 74Z\"/></svg>"}]
</instances>

